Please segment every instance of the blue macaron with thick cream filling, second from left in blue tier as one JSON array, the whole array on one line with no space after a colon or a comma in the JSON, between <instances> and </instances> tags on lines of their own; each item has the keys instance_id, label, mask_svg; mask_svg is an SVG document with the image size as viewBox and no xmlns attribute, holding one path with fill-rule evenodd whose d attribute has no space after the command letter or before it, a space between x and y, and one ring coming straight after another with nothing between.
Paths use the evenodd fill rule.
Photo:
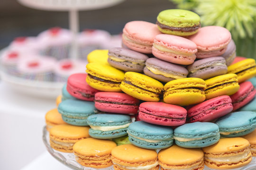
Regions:
<instances>
[{"instance_id":1,"label":"blue macaron with thick cream filling, second from left in blue tier","mask_svg":"<svg viewBox=\"0 0 256 170\"><path fill-rule=\"evenodd\" d=\"M95 114L87 119L89 135L98 139L111 139L127 135L127 128L131 123L128 115Z\"/></svg>"}]
</instances>

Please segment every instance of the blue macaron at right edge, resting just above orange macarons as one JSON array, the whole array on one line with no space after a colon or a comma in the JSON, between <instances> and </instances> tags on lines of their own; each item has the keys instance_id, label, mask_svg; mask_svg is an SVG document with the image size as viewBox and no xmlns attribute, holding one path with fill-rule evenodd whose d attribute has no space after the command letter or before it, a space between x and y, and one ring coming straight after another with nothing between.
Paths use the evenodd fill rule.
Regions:
<instances>
[{"instance_id":1,"label":"blue macaron at right edge, resting just above orange macarons","mask_svg":"<svg viewBox=\"0 0 256 170\"><path fill-rule=\"evenodd\" d=\"M237 111L225 115L215 122L219 126L220 136L244 136L256 128L256 112Z\"/></svg>"}]
</instances>

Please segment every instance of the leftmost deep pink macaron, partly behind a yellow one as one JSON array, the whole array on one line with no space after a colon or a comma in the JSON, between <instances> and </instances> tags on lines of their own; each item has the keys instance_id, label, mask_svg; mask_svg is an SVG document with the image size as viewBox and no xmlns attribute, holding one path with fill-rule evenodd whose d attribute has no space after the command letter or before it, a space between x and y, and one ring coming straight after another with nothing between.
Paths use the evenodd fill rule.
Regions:
<instances>
[{"instance_id":1,"label":"leftmost deep pink macaron, partly behind a yellow one","mask_svg":"<svg viewBox=\"0 0 256 170\"><path fill-rule=\"evenodd\" d=\"M67 80L67 91L70 93L70 95L77 99L93 101L95 93L100 91L88 85L85 81L86 77L86 73L76 73L70 75Z\"/></svg>"}]
</instances>

